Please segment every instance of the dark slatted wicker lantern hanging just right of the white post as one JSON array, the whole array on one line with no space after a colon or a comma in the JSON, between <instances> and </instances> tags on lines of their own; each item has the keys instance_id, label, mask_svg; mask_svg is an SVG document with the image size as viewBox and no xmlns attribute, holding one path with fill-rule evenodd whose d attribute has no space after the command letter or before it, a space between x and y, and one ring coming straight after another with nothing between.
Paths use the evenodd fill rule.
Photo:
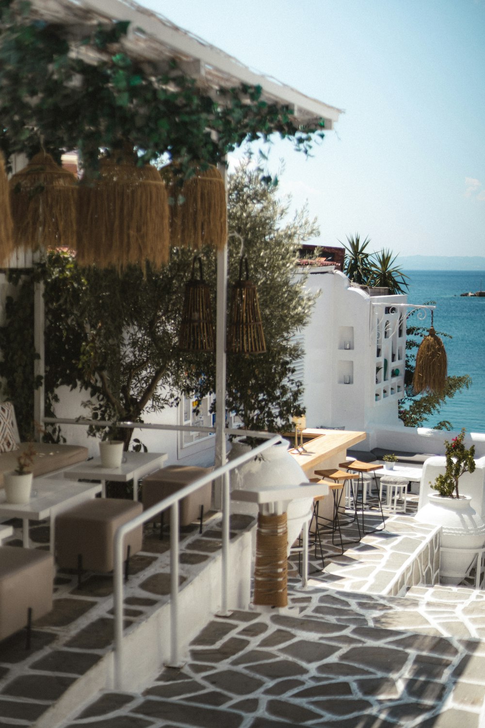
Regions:
<instances>
[{"instance_id":1,"label":"dark slatted wicker lantern hanging just right of the white post","mask_svg":"<svg viewBox=\"0 0 485 728\"><path fill-rule=\"evenodd\" d=\"M242 279L243 265L246 280ZM227 350L231 354L264 354L266 351L260 302L257 288L249 280L246 256L241 256L239 280L231 290Z\"/></svg>"}]
</instances>

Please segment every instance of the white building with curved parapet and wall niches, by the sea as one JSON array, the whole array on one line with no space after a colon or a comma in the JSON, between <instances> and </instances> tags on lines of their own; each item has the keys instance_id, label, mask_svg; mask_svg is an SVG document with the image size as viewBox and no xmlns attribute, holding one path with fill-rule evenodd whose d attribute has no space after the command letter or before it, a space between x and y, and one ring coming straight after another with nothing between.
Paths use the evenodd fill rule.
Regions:
<instances>
[{"instance_id":1,"label":"white building with curved parapet and wall niches, by the sea","mask_svg":"<svg viewBox=\"0 0 485 728\"><path fill-rule=\"evenodd\" d=\"M406 303L406 296L369 296L328 268L310 269L307 288L319 293L302 332L307 427L398 426L406 317L399 326L400 314L391 311L392 304Z\"/></svg>"}]
</instances>

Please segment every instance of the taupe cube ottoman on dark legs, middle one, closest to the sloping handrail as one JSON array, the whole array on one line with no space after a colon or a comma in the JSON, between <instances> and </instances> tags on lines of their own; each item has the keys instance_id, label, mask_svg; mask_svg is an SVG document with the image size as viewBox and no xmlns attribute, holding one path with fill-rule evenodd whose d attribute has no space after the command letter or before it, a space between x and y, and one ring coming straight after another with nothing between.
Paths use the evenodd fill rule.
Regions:
<instances>
[{"instance_id":1,"label":"taupe cube ottoman on dark legs, middle one, closest to the sloping handrail","mask_svg":"<svg viewBox=\"0 0 485 728\"><path fill-rule=\"evenodd\" d=\"M60 513L55 519L55 553L61 569L113 571L113 537L122 523L143 513L137 501L121 498L92 498ZM140 551L143 526L126 535L124 553ZM127 574L126 574L127 575Z\"/></svg>"}]
</instances>

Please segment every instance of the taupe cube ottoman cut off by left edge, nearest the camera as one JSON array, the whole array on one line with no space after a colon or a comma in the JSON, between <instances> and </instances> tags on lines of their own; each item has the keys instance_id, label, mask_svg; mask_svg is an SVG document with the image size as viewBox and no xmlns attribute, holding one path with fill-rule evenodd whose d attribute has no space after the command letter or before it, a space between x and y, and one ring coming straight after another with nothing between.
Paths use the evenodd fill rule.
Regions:
<instances>
[{"instance_id":1,"label":"taupe cube ottoman cut off by left edge, nearest the camera","mask_svg":"<svg viewBox=\"0 0 485 728\"><path fill-rule=\"evenodd\" d=\"M0 640L52 609L54 561L46 551L0 546Z\"/></svg>"}]
</instances>

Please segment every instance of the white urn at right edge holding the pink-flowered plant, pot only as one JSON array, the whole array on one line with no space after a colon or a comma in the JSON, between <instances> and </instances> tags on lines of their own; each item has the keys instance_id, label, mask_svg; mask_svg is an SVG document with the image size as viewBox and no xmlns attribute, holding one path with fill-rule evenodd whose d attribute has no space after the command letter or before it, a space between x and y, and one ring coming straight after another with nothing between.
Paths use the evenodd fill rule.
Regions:
<instances>
[{"instance_id":1,"label":"white urn at right edge holding the pink-flowered plant, pot only","mask_svg":"<svg viewBox=\"0 0 485 728\"><path fill-rule=\"evenodd\" d=\"M421 523L441 526L442 551L440 577L444 583L460 584L476 555L468 550L480 549L485 544L485 523L470 505L470 496L444 498L438 494L429 496L425 505L414 518Z\"/></svg>"}]
</instances>

